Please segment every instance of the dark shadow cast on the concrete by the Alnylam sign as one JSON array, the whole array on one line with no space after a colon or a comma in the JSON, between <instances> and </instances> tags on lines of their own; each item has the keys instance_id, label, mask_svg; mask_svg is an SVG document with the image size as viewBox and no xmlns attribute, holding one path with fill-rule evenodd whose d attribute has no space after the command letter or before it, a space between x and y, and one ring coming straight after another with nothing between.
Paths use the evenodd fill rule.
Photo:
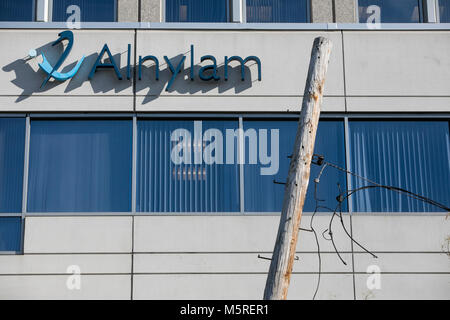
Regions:
<instances>
[{"instance_id":1,"label":"dark shadow cast on the concrete by the Alnylam sign","mask_svg":"<svg viewBox=\"0 0 450 320\"><path fill-rule=\"evenodd\" d=\"M34 59L38 59L37 62L42 61L41 54L45 53L45 56L49 60L50 64L55 65L57 60L60 58L63 53L64 46L62 43L59 43L56 46L52 46L53 42L49 42L39 48L36 48L37 57ZM67 80L67 86L64 89L64 93L70 93L78 88L80 88L85 81L89 81L92 91L94 93L107 93L113 91L113 93L119 93L123 90L132 86L132 80L128 80L126 78L127 66L120 65L120 58L123 54L127 54L127 51L117 53L113 55L113 59L118 66L120 73L122 74L122 80L119 80L112 68L108 69L97 69L92 80L89 80L89 73L91 72L92 66L94 65L98 52L92 53L89 56L85 57L83 64L78 70L77 74ZM176 92L179 94L195 94L195 93L207 93L211 90L218 89L218 93L224 93L228 90L234 89L234 93L240 93L252 86L252 83L257 80L252 80L250 67L254 66L256 68L256 63L251 62L244 65L245 72L245 80L241 80L241 65L240 63L234 61L228 65L228 81L224 80L224 65L223 62L218 64L217 66L217 75L220 77L220 80L208 80L203 81L199 78L198 72L202 65L197 64L194 65L194 74L195 80L190 80L190 72L191 67L185 68L186 63L189 63L189 51L184 54L179 54L170 58L170 61L174 67L178 65L181 61L183 55L186 55L186 60L183 64L182 70L177 75L174 80L172 87L168 92ZM108 58L103 59L103 62L108 62ZM69 55L69 59L81 59L81 57L71 57ZM160 60L160 72L159 72L159 80L155 79L156 66L153 62L147 61L142 66L142 80L137 79L138 75L138 65L136 66L136 94L140 96L145 96L143 100L143 104L146 104L150 101L157 99L163 90L165 90L168 82L172 78L172 72L167 66L163 57L159 58ZM65 65L60 72L68 72L70 71L76 64L77 61L70 63L69 65ZM36 62L36 64L37 64ZM211 63L210 61L205 61L205 65ZM133 67L133 66L132 66ZM22 100L27 99L32 96L34 93L42 93L49 92L52 89L62 85L64 82L60 82L54 79L49 80L47 84L41 88L41 84L44 81L47 74L43 72L41 69L35 71L30 65L29 61L22 59L17 59L8 65L5 65L2 68L3 71L6 72L15 72L16 78L12 80L12 83L17 87L22 89L19 97L16 99L16 102L20 102ZM212 72L212 71L211 71ZM206 75L211 74L205 72ZM133 69L131 70L131 76L133 77ZM139 94L139 92L147 90L145 94Z\"/></svg>"}]
</instances>

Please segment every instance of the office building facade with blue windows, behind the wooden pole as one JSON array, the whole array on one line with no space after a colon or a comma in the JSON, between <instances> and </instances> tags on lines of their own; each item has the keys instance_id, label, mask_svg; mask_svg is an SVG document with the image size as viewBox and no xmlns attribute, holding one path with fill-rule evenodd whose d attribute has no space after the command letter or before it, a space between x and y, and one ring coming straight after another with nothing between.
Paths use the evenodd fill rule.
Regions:
<instances>
[{"instance_id":1,"label":"office building facade with blue windows, behind the wooden pole","mask_svg":"<svg viewBox=\"0 0 450 320\"><path fill-rule=\"evenodd\" d=\"M449 299L448 0L2 1L0 299L262 298L317 36L289 298Z\"/></svg>"}]
</instances>

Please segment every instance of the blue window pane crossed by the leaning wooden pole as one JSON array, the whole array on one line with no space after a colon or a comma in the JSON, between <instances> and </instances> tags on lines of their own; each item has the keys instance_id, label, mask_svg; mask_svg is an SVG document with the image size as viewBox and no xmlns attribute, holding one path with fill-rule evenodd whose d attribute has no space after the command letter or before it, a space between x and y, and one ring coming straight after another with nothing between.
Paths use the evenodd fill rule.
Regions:
<instances>
[{"instance_id":1,"label":"blue window pane crossed by the leaning wooden pole","mask_svg":"<svg viewBox=\"0 0 450 320\"><path fill-rule=\"evenodd\" d=\"M295 136L297 133L298 121L244 121L244 129L255 129L258 132L258 156L257 164L250 164L249 150L251 145L249 139L246 139L245 152L246 164L244 166L244 183L245 183L245 211L249 212L281 212L284 196L284 184L275 184L273 181L285 182L289 172L290 156L294 149ZM261 138L260 130L267 130L267 144L265 139ZM279 130L279 138L276 139L274 130ZM248 136L248 135L247 135ZM264 134L263 136L264 137ZM272 140L272 139L276 140ZM272 145L273 144L273 145ZM276 152L276 145L279 145L279 154ZM278 170L273 174L263 175L261 168L268 167L262 163L269 163L264 160L264 156L260 154L261 146L266 145L263 155L270 154L272 156L271 166L276 169L275 161L279 161ZM273 155L272 155L273 152ZM325 157L326 161L335 163L345 168L345 147L344 147L344 125L342 121L321 121L316 137L315 154ZM263 160L261 160L263 159ZM253 161L254 162L254 161ZM311 165L311 178L309 181L308 193L304 205L305 212L312 212L315 208L314 201L314 179L319 174L321 167ZM267 172L266 172L267 173ZM317 190L318 199L321 206L335 209L337 206L336 196L339 194L337 183L341 185L343 190L346 188L345 174L333 168L325 169ZM347 211L347 205L344 204L343 210ZM326 211L320 209L319 211Z\"/></svg>"}]
</instances>

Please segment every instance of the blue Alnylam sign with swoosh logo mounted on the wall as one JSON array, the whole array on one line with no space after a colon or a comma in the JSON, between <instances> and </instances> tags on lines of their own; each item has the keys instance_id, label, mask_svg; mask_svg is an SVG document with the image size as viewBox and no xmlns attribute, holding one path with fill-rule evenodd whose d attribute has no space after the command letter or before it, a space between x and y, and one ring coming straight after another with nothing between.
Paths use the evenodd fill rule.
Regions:
<instances>
[{"instance_id":1,"label":"blue Alnylam sign with swoosh logo mounted on the wall","mask_svg":"<svg viewBox=\"0 0 450 320\"><path fill-rule=\"evenodd\" d=\"M72 50L72 47L74 45L74 35L73 32L70 30L63 31L59 33L59 38L52 44L52 46L55 46L62 41L67 40L68 44L65 50L63 51L61 57L58 59L58 61L52 65L46 58L45 53L42 52L42 59L43 61L39 63L39 67L42 71L46 73L46 77L44 81L42 82L41 88L45 87L47 82L53 78L57 81L65 81L70 78L73 78L78 70L81 68L82 64L85 62L85 56L83 56L75 65L75 67L72 68L69 72L61 73L58 72L58 69L62 66L66 58L69 56L70 51ZM132 78L132 65L131 65L131 44L127 45L127 68L126 68L126 78L127 80L131 80ZM249 62L252 62L256 64L257 70L258 70L258 81L262 80L262 66L261 66L261 60L257 56L247 56L245 58L242 58L238 55L233 56L224 56L224 61L221 64L218 64L217 58L213 55L203 55L200 57L200 62L203 64L201 67L195 68L195 47L194 45L190 46L189 52L189 61L190 61L190 71L189 71L189 80L194 81L196 79L200 79L201 81L228 81L229 79L229 73L230 69L232 67L230 64L232 62L237 63L238 69L240 70L241 75L241 81L246 80L246 64ZM107 59L103 60L103 58L107 56ZM32 49L29 52L29 56L34 58L37 56L36 50ZM177 61L177 63L174 63L171 59L169 59L168 56L163 56L164 64L167 66L167 70L170 72L171 76L166 86L166 91L169 91L175 81L175 79L182 73L184 70L184 65L187 63L188 59L186 59L186 55L181 55L181 59ZM137 61L137 66L134 66L137 68L137 80L142 80L143 78L143 67L144 63L146 61L151 61L154 65L154 79L156 81L159 81L159 74L160 74L160 62L159 58L154 55L145 55L145 56L139 56L139 60ZM206 64L208 63L208 64ZM218 65L221 65L221 68L218 68ZM116 75L117 79L122 80L123 76L120 72L119 66L117 65L116 61L114 60L111 51L108 47L108 44L104 44L103 48L101 49L100 53L97 56L97 59L94 63L94 65L91 68L91 71L89 73L88 79L91 80L95 73L99 70L113 70L114 74Z\"/></svg>"}]
</instances>

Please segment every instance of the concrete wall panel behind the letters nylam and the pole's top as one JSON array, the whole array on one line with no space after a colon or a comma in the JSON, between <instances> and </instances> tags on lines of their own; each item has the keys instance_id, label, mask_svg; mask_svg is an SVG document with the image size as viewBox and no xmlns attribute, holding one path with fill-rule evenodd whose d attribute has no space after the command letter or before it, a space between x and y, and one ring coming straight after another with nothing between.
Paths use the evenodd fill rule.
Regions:
<instances>
[{"instance_id":1,"label":"concrete wall panel behind the letters nylam and the pole's top","mask_svg":"<svg viewBox=\"0 0 450 320\"><path fill-rule=\"evenodd\" d=\"M325 95L343 96L342 47L339 32L222 32L222 31L138 31L139 55L154 55L160 62L160 80L155 80L154 63L148 61L142 68L143 80L137 81L139 110L151 111L147 103L164 96L188 95L207 96L211 105L227 96L243 97L245 104L256 105L253 98L261 97L298 97L303 95L306 74L309 66L311 47L315 37L325 35L333 41L333 54ZM196 78L189 80L190 45L194 45L194 71ZM288 48L288 49L287 49ZM163 56L170 58L177 65L183 55L186 56L184 70L175 79L170 91L165 91L167 82L172 77ZM202 81L198 78L204 55L213 55L217 59L219 81ZM257 80L257 65L250 62L246 67L246 80L241 81L240 64L230 63L229 80L224 81L224 56L238 55L243 58L256 55L261 60L262 81ZM245 98L244 98L245 97ZM155 102L157 103L157 102ZM223 102L219 102L223 104ZM189 105L189 102L186 102ZM240 102L239 107L244 103ZM233 108L230 105L230 108Z\"/></svg>"}]
</instances>

